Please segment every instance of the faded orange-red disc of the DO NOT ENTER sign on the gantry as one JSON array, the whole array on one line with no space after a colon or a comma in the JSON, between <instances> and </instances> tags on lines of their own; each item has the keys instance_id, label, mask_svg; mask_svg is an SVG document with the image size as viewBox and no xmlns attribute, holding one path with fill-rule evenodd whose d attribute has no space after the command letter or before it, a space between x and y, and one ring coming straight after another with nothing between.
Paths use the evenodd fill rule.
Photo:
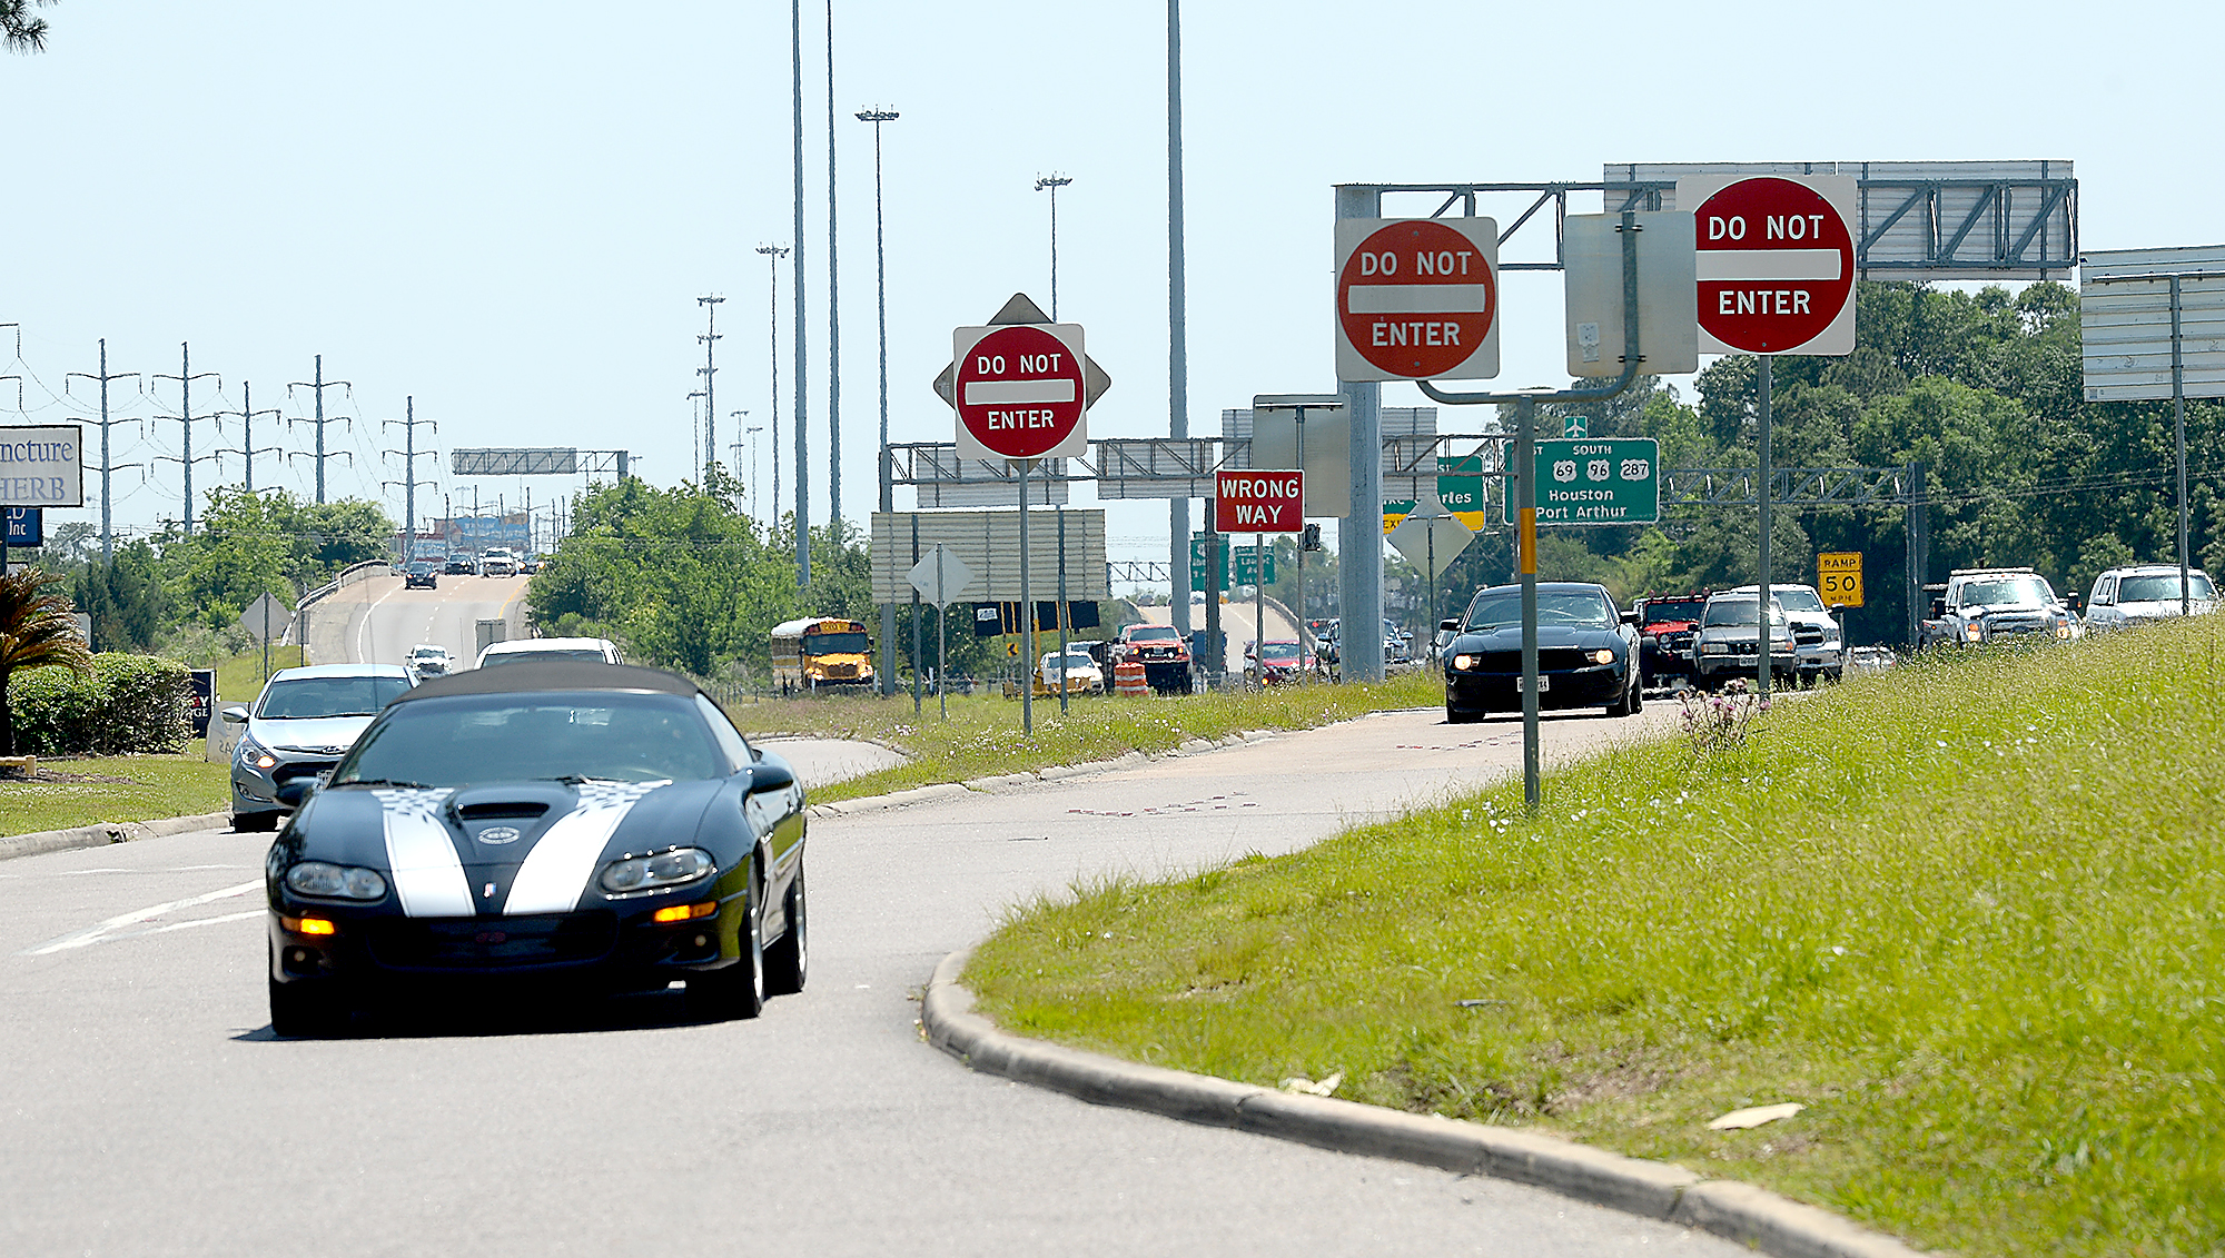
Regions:
<instances>
[{"instance_id":1,"label":"faded orange-red disc of the DO NOT ENTER sign on the gantry","mask_svg":"<svg viewBox=\"0 0 2225 1258\"><path fill-rule=\"evenodd\" d=\"M1428 218L1375 229L1337 276L1337 322L1377 371L1431 380L1466 362L1500 313L1473 240Z\"/></svg>"}]
</instances>

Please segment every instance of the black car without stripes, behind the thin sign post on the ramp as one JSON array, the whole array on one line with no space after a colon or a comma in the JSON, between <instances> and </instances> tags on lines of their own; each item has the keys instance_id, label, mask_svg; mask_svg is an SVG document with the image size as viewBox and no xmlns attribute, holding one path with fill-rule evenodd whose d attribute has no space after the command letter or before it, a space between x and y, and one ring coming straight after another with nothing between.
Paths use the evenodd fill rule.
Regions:
<instances>
[{"instance_id":1,"label":"black car without stripes, behind the thin sign post on the ramp","mask_svg":"<svg viewBox=\"0 0 2225 1258\"><path fill-rule=\"evenodd\" d=\"M1444 720L1522 711L1522 587L1477 591L1444 656ZM1638 713L1638 631L1604 585L1537 582L1537 707Z\"/></svg>"}]
</instances>

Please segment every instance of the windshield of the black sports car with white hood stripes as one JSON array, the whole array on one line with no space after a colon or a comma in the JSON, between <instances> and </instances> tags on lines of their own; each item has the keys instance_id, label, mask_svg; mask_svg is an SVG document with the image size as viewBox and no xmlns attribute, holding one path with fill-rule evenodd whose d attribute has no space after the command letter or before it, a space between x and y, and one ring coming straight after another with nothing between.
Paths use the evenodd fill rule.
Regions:
<instances>
[{"instance_id":1,"label":"windshield of the black sports car with white hood stripes","mask_svg":"<svg viewBox=\"0 0 2225 1258\"><path fill-rule=\"evenodd\" d=\"M685 782L725 773L712 731L681 696L474 693L396 705L363 731L332 782Z\"/></svg>"}]
</instances>

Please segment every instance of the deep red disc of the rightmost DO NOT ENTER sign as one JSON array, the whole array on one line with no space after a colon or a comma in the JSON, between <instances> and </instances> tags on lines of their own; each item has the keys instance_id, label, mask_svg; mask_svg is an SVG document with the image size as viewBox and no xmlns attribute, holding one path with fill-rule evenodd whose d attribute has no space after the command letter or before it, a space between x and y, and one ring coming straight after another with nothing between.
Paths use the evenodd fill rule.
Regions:
<instances>
[{"instance_id":1,"label":"deep red disc of the rightmost DO NOT ENTER sign","mask_svg":"<svg viewBox=\"0 0 2225 1258\"><path fill-rule=\"evenodd\" d=\"M1740 180L1693 209L1700 327L1747 353L1822 336L1853 298L1853 236L1816 189Z\"/></svg>"}]
</instances>

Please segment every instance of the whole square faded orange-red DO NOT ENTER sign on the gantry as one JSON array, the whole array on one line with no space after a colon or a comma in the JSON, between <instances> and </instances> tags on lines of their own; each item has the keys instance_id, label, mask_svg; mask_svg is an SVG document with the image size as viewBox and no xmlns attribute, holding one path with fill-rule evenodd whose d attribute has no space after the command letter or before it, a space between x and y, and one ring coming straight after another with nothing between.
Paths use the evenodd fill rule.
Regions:
<instances>
[{"instance_id":1,"label":"whole square faded orange-red DO NOT ENTER sign on the gantry","mask_svg":"<svg viewBox=\"0 0 2225 1258\"><path fill-rule=\"evenodd\" d=\"M1337 380L1500 373L1500 229L1489 218L1337 222Z\"/></svg>"}]
</instances>

